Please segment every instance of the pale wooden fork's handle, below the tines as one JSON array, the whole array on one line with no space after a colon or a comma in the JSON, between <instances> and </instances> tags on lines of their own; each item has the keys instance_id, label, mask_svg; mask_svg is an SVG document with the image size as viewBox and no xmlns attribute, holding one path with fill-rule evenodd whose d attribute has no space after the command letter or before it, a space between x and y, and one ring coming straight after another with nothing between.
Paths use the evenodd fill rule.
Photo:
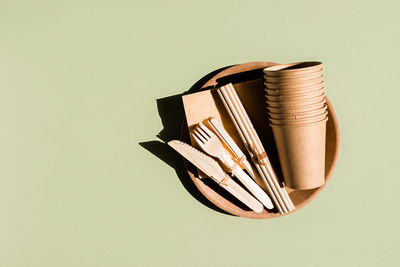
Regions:
<instances>
[{"instance_id":1,"label":"pale wooden fork's handle, below the tines","mask_svg":"<svg viewBox=\"0 0 400 267\"><path fill-rule=\"evenodd\" d=\"M274 204L272 204L269 196L261 189L261 187L254 182L227 154L221 156L221 161L228 167L232 168L232 173L236 176L239 181L257 198L267 209L273 209Z\"/></svg>"}]
</instances>

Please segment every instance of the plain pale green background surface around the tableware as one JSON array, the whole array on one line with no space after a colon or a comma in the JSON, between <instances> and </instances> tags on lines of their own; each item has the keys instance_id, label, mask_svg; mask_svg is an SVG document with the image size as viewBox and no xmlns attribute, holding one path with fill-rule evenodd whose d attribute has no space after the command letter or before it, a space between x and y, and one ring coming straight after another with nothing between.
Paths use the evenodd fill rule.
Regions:
<instances>
[{"instance_id":1,"label":"plain pale green background surface around the tableware","mask_svg":"<svg viewBox=\"0 0 400 267\"><path fill-rule=\"evenodd\" d=\"M0 266L399 266L400 2L0 1ZM156 99L321 60L337 169L273 220L194 199L139 142Z\"/></svg>"}]
</instances>

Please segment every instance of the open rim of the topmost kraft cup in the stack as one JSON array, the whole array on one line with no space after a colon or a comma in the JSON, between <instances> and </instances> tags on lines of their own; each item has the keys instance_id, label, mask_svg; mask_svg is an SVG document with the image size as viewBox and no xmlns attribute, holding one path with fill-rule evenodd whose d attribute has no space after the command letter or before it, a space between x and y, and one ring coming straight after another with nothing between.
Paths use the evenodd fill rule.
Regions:
<instances>
[{"instance_id":1,"label":"open rim of the topmost kraft cup in the stack","mask_svg":"<svg viewBox=\"0 0 400 267\"><path fill-rule=\"evenodd\" d=\"M265 68L264 74L268 77L288 77L296 75L304 75L319 71L322 69L322 63L318 61L297 62L284 65L275 65Z\"/></svg>"}]
</instances>

